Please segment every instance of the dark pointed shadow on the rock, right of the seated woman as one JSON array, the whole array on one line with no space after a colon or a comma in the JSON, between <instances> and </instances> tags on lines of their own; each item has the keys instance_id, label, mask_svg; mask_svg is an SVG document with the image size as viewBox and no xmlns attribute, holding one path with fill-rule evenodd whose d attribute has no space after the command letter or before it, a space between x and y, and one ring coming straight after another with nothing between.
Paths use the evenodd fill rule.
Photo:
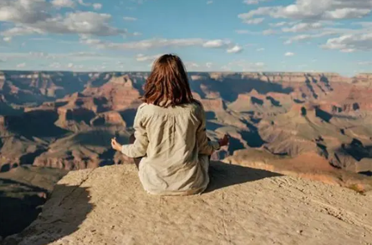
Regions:
<instances>
[{"instance_id":1,"label":"dark pointed shadow on the rock, right of the seated woman","mask_svg":"<svg viewBox=\"0 0 372 245\"><path fill-rule=\"evenodd\" d=\"M212 161L210 165L210 185L208 185L205 193L226 188L230 185L238 185L275 176L282 176L282 174L252 167Z\"/></svg>"}]
</instances>

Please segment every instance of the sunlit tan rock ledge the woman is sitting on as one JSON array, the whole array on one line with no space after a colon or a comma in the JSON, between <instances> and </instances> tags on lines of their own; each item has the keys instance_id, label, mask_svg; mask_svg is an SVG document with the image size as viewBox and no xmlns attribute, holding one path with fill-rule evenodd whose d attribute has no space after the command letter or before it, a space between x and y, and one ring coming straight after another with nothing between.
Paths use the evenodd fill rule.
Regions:
<instances>
[{"instance_id":1,"label":"sunlit tan rock ledge the woman is sitting on","mask_svg":"<svg viewBox=\"0 0 372 245\"><path fill-rule=\"evenodd\" d=\"M133 165L69 172L3 244L372 244L372 194L214 162L207 192L159 197Z\"/></svg>"}]
</instances>

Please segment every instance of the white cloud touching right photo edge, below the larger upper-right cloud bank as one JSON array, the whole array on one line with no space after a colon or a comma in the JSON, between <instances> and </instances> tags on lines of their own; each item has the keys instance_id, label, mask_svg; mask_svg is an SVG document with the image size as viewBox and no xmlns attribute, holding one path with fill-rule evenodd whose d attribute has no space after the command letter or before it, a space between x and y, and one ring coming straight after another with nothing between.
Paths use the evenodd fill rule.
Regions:
<instances>
[{"instance_id":1,"label":"white cloud touching right photo edge, below the larger upper-right cloud bank","mask_svg":"<svg viewBox=\"0 0 372 245\"><path fill-rule=\"evenodd\" d=\"M342 52L351 53L354 51L372 50L372 31L370 33L358 35L342 35L328 39L326 44L322 45L326 49L338 49Z\"/></svg>"}]
</instances>

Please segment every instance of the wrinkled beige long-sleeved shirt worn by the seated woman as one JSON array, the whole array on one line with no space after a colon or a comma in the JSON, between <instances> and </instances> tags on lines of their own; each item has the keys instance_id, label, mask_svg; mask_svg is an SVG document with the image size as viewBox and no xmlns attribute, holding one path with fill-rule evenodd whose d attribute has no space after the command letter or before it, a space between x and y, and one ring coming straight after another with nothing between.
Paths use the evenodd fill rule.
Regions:
<instances>
[{"instance_id":1,"label":"wrinkled beige long-sleeved shirt worn by the seated woman","mask_svg":"<svg viewBox=\"0 0 372 245\"><path fill-rule=\"evenodd\" d=\"M147 192L185 195L207 188L208 156L219 144L207 140L201 105L165 108L144 103L138 108L133 127L136 140L123 145L122 153L143 157L138 175Z\"/></svg>"}]
</instances>

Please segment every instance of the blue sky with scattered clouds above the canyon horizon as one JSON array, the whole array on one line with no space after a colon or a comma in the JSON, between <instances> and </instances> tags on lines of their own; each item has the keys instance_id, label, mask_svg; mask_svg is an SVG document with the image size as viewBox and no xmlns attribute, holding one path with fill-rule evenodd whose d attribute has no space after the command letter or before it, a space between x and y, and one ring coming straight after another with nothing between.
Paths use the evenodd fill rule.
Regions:
<instances>
[{"instance_id":1,"label":"blue sky with scattered clouds above the canyon horizon","mask_svg":"<svg viewBox=\"0 0 372 245\"><path fill-rule=\"evenodd\" d=\"M372 72L372 0L1 0L0 69Z\"/></svg>"}]
</instances>

